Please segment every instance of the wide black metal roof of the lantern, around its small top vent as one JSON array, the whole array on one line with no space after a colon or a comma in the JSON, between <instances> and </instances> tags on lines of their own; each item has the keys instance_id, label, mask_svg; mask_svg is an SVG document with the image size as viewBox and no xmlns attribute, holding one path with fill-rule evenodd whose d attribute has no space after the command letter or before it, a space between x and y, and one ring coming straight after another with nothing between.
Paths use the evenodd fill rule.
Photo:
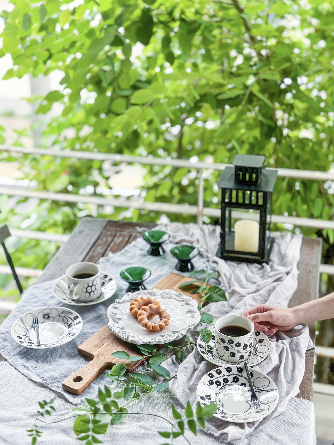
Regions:
<instances>
[{"instance_id":1,"label":"wide black metal roof of the lantern, around its small top vent","mask_svg":"<svg viewBox=\"0 0 334 445\"><path fill-rule=\"evenodd\" d=\"M250 157L257 158L257 156L250 156ZM261 166L262 166L262 160L261 160ZM235 173L234 166L225 167L225 170L223 171L223 174L220 176L217 186L220 187L221 189L256 190L259 192L272 192L277 178L277 170L267 170L263 168L261 171L261 178L258 183L253 183L253 185L251 183L240 184L235 181L234 173Z\"/></svg>"}]
</instances>

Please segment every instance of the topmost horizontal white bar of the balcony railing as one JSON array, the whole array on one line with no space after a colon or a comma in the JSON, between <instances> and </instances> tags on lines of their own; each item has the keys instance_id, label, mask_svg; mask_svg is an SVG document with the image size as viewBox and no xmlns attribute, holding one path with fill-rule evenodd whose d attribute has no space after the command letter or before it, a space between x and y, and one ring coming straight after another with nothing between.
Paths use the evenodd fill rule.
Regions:
<instances>
[{"instance_id":1,"label":"topmost horizontal white bar of the balcony railing","mask_svg":"<svg viewBox=\"0 0 334 445\"><path fill-rule=\"evenodd\" d=\"M203 168L213 170L224 170L226 166L231 164L223 163L208 163L208 162L190 162L186 159L166 159L166 158L149 158L143 156L127 156L118 153L101 153L81 150L53 150L42 148L24 148L16 146L4 146L0 145L0 151L12 151L14 153L23 154L41 154L44 156L58 156L61 158L77 158L77 159L91 159L97 161L113 161L113 162L127 162L127 163L139 163L147 165L162 165L173 167L188 167L188 168ZM269 170L277 170L277 175L282 178L294 178L294 179L310 179L314 181L334 181L334 173L329 171L318 170L298 170L289 168L271 168Z\"/></svg>"}]
</instances>

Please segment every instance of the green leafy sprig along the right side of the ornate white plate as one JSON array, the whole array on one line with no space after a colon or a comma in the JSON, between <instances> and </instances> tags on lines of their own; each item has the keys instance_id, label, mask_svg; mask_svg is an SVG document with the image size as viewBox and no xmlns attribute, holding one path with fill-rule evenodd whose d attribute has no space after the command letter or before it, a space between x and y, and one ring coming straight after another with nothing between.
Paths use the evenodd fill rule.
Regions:
<instances>
[{"instance_id":1,"label":"green leafy sprig along the right side of the ornate white plate","mask_svg":"<svg viewBox=\"0 0 334 445\"><path fill-rule=\"evenodd\" d=\"M202 314L203 305L205 302L216 303L218 301L226 301L227 298L225 292L221 287L212 285L208 282L209 279L212 278L218 279L219 273L217 271L210 271L210 270L205 271L202 269L200 271L191 272L189 276L195 279L180 284L179 288L181 289L182 287L194 285L197 287L197 289L191 291L190 292L191 294L198 294L202 292L202 297L200 299L201 303L198 305L198 310L200 311L201 314L200 324L202 328L200 331L200 335L206 343L209 343L209 341L212 339L212 332L209 329L203 328L202 323L211 324L213 322L213 317L211 314L208 314L207 312Z\"/></svg>"}]
</instances>

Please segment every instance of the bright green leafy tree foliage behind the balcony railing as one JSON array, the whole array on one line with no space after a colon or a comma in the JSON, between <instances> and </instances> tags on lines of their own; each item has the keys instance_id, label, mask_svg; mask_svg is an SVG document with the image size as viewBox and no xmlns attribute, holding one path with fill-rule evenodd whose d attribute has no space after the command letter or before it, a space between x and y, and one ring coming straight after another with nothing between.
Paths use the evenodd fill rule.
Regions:
<instances>
[{"instance_id":1,"label":"bright green leafy tree foliage behind the balcony railing","mask_svg":"<svg viewBox=\"0 0 334 445\"><path fill-rule=\"evenodd\" d=\"M330 168L332 0L12 3L12 12L2 13L0 57L10 53L13 59L4 78L64 73L63 90L48 93L36 111L62 107L44 132L45 146L215 162L231 162L236 153L264 154L271 167ZM20 160L39 189L106 194L109 176L101 162ZM146 168L147 201L196 203L196 170ZM205 206L217 205L218 177L204 172ZM326 187L331 191L330 183L278 178L273 212L330 219L333 195ZM36 211L42 217L30 228L58 231L71 231L84 214L134 221L160 216L62 202L42 202ZM15 210L8 216L18 224L23 219ZM303 233L315 236L313 229ZM320 235L334 242L332 230Z\"/></svg>"}]
</instances>

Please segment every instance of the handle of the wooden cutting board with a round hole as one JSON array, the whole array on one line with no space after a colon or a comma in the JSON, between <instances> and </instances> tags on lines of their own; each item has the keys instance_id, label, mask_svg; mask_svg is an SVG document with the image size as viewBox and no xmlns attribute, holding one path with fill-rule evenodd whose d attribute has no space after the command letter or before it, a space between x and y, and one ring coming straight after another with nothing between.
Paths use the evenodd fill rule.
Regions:
<instances>
[{"instance_id":1,"label":"handle of the wooden cutting board with a round hole","mask_svg":"<svg viewBox=\"0 0 334 445\"><path fill-rule=\"evenodd\" d=\"M78 396L111 364L110 361L106 362L104 358L102 360L94 358L79 369L79 371L74 372L74 374L67 377L67 379L61 383L61 386L65 391L72 392L72 394Z\"/></svg>"}]
</instances>

